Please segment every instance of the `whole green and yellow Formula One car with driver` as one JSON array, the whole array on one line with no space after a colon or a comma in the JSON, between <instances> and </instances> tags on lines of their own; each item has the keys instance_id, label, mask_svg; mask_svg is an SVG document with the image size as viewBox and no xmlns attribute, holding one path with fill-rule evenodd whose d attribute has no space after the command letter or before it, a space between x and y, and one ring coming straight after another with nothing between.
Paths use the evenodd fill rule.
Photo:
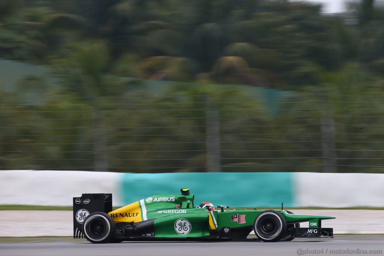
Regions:
<instances>
[{"instance_id":1,"label":"whole green and yellow Formula One car with driver","mask_svg":"<svg viewBox=\"0 0 384 256\"><path fill-rule=\"evenodd\" d=\"M73 198L73 238L91 243L129 240L291 241L295 237L333 238L333 228L322 228L331 216L297 215L286 210L229 209L219 211L194 205L189 189L181 194L155 194L112 210L112 194L83 194ZM310 228L300 228L309 222ZM247 238L254 230L257 239Z\"/></svg>"}]
</instances>

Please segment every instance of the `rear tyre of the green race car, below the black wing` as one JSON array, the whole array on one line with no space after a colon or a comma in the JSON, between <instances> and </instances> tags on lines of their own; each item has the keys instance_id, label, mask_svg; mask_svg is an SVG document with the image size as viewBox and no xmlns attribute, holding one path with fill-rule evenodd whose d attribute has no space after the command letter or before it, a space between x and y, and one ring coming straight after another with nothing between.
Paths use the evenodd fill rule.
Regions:
<instances>
[{"instance_id":1,"label":"rear tyre of the green race car, below the black wing","mask_svg":"<svg viewBox=\"0 0 384 256\"><path fill-rule=\"evenodd\" d=\"M108 243L115 231L116 225L112 217L103 212L89 214L83 223L83 234L91 243Z\"/></svg>"}]
</instances>

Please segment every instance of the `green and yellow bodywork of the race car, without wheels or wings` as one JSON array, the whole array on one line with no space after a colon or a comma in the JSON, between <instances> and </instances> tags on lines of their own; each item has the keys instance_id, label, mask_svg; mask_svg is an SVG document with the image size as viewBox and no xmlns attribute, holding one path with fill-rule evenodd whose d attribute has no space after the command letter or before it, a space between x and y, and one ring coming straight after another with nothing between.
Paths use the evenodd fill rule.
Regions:
<instances>
[{"instance_id":1,"label":"green and yellow bodywork of the race car, without wheels or wings","mask_svg":"<svg viewBox=\"0 0 384 256\"><path fill-rule=\"evenodd\" d=\"M135 216L135 211L138 212L138 206L140 207L139 211L141 211L141 221L143 223L153 221L154 237L156 238L208 238L212 237L212 234L228 232L228 229L241 231L241 236L246 237L252 231L258 214L265 211L228 209L225 206L219 207L218 211L208 211L194 205L193 194L155 194L112 211L109 215L116 222L133 223L136 221L137 223L140 220L124 220L116 216L121 216L121 214ZM321 220L335 218L289 214L285 210L276 211L281 213L287 224L309 222L310 228L320 228ZM121 214L119 215L119 213Z\"/></svg>"}]
</instances>

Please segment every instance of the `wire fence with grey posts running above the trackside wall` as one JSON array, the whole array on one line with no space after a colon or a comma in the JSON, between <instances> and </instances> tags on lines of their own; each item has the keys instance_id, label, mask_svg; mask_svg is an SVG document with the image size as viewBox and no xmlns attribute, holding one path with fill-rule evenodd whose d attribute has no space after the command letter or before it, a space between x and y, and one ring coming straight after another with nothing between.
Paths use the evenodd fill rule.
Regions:
<instances>
[{"instance_id":1,"label":"wire fence with grey posts running above the trackside wall","mask_svg":"<svg viewBox=\"0 0 384 256\"><path fill-rule=\"evenodd\" d=\"M384 172L382 96L0 97L1 170Z\"/></svg>"}]
</instances>

